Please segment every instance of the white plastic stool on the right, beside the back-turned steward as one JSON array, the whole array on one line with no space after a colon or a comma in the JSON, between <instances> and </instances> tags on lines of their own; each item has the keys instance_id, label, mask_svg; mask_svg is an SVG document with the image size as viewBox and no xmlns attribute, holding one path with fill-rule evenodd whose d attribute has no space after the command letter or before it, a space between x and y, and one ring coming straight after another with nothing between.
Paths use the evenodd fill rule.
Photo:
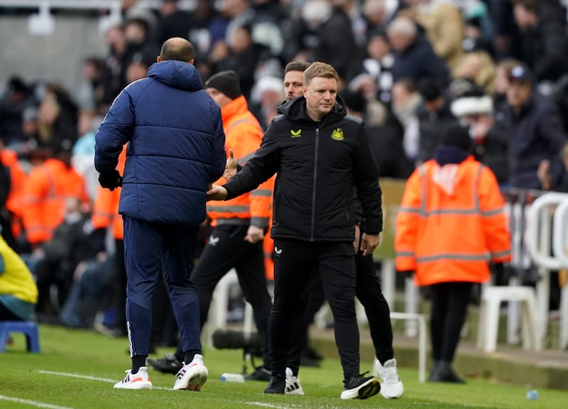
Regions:
<instances>
[{"instance_id":1,"label":"white plastic stool on the right, beside the back-turned steward","mask_svg":"<svg viewBox=\"0 0 568 409\"><path fill-rule=\"evenodd\" d=\"M493 352L497 347L499 310L503 301L519 301L522 305L523 348L537 349L535 329L535 290L531 287L488 285L481 293L477 347Z\"/></svg>"}]
</instances>

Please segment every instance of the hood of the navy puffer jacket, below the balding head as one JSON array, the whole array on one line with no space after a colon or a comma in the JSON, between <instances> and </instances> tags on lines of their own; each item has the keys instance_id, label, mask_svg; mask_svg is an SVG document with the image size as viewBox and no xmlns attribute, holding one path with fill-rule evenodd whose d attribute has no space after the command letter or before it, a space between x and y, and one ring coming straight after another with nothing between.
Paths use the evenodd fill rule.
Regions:
<instances>
[{"instance_id":1,"label":"hood of the navy puffer jacket, below the balding head","mask_svg":"<svg viewBox=\"0 0 568 409\"><path fill-rule=\"evenodd\" d=\"M155 62L148 69L148 77L185 91L203 89L201 75L189 62L167 60Z\"/></svg>"}]
</instances>

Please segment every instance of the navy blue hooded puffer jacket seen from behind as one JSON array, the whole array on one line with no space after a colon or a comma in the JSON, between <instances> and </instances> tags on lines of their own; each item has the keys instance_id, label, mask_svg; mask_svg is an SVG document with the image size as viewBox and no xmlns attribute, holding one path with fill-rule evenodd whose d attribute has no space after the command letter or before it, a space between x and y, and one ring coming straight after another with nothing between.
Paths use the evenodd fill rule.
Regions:
<instances>
[{"instance_id":1,"label":"navy blue hooded puffer jacket seen from behind","mask_svg":"<svg viewBox=\"0 0 568 409\"><path fill-rule=\"evenodd\" d=\"M119 213L148 222L200 224L209 183L226 163L221 109L186 62L153 64L116 97L95 136L99 173L126 168Z\"/></svg>"}]
</instances>

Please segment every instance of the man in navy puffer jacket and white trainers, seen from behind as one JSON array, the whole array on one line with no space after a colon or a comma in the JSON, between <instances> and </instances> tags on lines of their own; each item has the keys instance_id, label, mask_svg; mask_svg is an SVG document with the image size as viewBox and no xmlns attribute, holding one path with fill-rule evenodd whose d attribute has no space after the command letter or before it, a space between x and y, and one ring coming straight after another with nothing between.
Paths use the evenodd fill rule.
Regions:
<instances>
[{"instance_id":1,"label":"man in navy puffer jacket and white trainers, seen from behind","mask_svg":"<svg viewBox=\"0 0 568 409\"><path fill-rule=\"evenodd\" d=\"M132 366L115 388L152 387L144 365L160 270L187 362L173 388L199 391L207 380L199 301L190 273L207 188L223 174L226 155L221 110L204 91L193 58L189 41L165 41L148 77L121 92L95 136L100 184L110 190L122 185L119 213L124 219ZM123 182L116 164L126 143Z\"/></svg>"}]
</instances>

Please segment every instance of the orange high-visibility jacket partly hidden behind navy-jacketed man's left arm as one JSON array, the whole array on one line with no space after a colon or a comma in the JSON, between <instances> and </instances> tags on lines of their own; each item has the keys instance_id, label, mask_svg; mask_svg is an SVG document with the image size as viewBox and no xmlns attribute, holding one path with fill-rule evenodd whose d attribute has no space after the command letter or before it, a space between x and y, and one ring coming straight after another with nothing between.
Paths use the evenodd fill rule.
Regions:
<instances>
[{"instance_id":1,"label":"orange high-visibility jacket partly hidden behind navy-jacketed man's left arm","mask_svg":"<svg viewBox=\"0 0 568 409\"><path fill-rule=\"evenodd\" d=\"M126 145L119 156L119 163L116 169L124 175L124 165L126 163ZM93 214L91 222L94 229L107 228L112 226L112 236L115 239L124 239L124 224L119 214L121 187L117 187L112 192L104 187L97 188L97 196L94 198Z\"/></svg>"}]
</instances>

